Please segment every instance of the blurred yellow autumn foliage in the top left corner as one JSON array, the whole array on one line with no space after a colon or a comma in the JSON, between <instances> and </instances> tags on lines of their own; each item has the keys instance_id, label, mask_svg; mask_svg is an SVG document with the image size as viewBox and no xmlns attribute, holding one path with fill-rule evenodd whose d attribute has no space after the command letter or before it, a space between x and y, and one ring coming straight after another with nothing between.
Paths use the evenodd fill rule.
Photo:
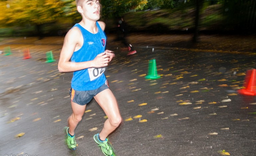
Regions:
<instances>
[{"instance_id":1,"label":"blurred yellow autumn foliage in the top left corner","mask_svg":"<svg viewBox=\"0 0 256 156\"><path fill-rule=\"evenodd\" d=\"M12 0L0 2L0 21L14 25L40 25L62 16L64 3L58 0Z\"/></svg>"}]
</instances>

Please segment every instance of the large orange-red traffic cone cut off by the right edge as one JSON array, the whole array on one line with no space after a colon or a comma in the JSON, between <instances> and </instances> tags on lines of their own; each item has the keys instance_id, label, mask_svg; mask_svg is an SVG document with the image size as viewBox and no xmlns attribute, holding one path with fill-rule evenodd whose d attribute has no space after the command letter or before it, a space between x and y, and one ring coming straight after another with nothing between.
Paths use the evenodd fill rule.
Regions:
<instances>
[{"instance_id":1,"label":"large orange-red traffic cone cut off by the right edge","mask_svg":"<svg viewBox=\"0 0 256 156\"><path fill-rule=\"evenodd\" d=\"M256 95L256 69L248 70L244 80L244 89L239 89L239 94Z\"/></svg>"}]
</instances>

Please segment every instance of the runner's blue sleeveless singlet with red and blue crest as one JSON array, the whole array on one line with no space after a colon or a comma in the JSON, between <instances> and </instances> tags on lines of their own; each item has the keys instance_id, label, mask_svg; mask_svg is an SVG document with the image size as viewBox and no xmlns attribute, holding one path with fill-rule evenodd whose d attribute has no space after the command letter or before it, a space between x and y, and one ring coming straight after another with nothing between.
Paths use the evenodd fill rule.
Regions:
<instances>
[{"instance_id":1,"label":"runner's blue sleeveless singlet with red and blue crest","mask_svg":"<svg viewBox=\"0 0 256 156\"><path fill-rule=\"evenodd\" d=\"M99 53L105 51L106 36L100 28L98 22L96 22L98 32L92 34L84 29L81 25L75 24L74 27L78 27L83 36L82 47L75 51L71 57L72 62L84 62L93 60ZM94 90L103 85L106 81L104 75L105 67L103 68L87 68L73 72L73 78L71 80L71 87L77 91Z\"/></svg>"}]
</instances>

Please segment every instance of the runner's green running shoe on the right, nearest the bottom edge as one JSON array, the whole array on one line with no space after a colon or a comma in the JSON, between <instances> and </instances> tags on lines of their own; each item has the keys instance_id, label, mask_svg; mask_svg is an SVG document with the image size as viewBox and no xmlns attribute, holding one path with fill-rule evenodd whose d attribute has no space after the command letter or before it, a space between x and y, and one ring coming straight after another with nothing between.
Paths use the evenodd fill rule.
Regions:
<instances>
[{"instance_id":1,"label":"runner's green running shoe on the right, nearest the bottom edge","mask_svg":"<svg viewBox=\"0 0 256 156\"><path fill-rule=\"evenodd\" d=\"M99 133L95 134L93 136L94 141L99 144L98 146L101 147L101 150L103 152L104 155L106 156L116 156L113 149L110 147L110 145L107 143L108 139L106 139L105 141L100 141L99 140Z\"/></svg>"}]
</instances>

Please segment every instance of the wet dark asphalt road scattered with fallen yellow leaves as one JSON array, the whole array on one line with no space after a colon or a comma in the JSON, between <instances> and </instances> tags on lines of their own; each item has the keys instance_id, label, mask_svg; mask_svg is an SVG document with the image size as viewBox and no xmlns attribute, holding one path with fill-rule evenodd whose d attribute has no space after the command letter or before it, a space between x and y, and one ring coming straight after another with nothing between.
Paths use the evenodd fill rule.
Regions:
<instances>
[{"instance_id":1,"label":"wet dark asphalt road scattered with fallen yellow leaves","mask_svg":"<svg viewBox=\"0 0 256 156\"><path fill-rule=\"evenodd\" d=\"M118 156L256 155L256 98L236 93L255 55L111 50L116 57L105 74L124 119L109 136ZM0 156L103 155L93 135L105 114L95 100L76 128L77 150L69 150L63 127L72 73L60 73L58 59L45 63L32 53L24 60L17 53L0 55ZM156 80L145 79L151 59L161 75Z\"/></svg>"}]
</instances>

